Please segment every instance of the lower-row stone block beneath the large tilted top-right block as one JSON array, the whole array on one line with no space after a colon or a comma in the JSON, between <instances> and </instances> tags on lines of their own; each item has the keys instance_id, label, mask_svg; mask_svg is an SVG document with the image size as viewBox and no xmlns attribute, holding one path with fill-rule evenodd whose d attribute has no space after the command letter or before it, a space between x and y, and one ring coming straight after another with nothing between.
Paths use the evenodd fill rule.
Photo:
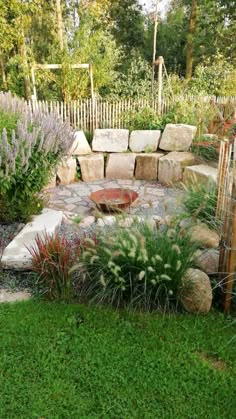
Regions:
<instances>
[{"instance_id":1,"label":"lower-row stone block beneath the large tilted top-right block","mask_svg":"<svg viewBox=\"0 0 236 419\"><path fill-rule=\"evenodd\" d=\"M191 164L194 164L192 153L172 151L159 159L158 179L166 185L180 182L183 178L184 168Z\"/></svg>"}]
</instances>

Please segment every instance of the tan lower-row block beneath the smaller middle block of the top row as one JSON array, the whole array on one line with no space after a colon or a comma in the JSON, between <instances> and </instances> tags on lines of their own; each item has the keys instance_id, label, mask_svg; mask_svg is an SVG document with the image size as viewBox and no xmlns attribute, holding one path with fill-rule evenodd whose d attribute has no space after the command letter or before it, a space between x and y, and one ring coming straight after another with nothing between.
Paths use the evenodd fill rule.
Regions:
<instances>
[{"instance_id":1,"label":"tan lower-row block beneath the smaller middle block of the top row","mask_svg":"<svg viewBox=\"0 0 236 419\"><path fill-rule=\"evenodd\" d=\"M141 180L156 180L158 161L164 154L148 153L136 156L135 178Z\"/></svg>"}]
</instances>

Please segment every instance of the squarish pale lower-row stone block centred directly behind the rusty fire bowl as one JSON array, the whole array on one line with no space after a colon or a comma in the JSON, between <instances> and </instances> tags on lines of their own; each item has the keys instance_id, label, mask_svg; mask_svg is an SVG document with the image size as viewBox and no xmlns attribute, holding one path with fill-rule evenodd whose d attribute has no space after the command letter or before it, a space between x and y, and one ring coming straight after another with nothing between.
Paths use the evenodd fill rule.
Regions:
<instances>
[{"instance_id":1,"label":"squarish pale lower-row stone block centred directly behind the rusty fire bowl","mask_svg":"<svg viewBox=\"0 0 236 419\"><path fill-rule=\"evenodd\" d=\"M119 153L110 154L107 158L106 178L132 179L134 176L136 154Z\"/></svg>"}]
</instances>

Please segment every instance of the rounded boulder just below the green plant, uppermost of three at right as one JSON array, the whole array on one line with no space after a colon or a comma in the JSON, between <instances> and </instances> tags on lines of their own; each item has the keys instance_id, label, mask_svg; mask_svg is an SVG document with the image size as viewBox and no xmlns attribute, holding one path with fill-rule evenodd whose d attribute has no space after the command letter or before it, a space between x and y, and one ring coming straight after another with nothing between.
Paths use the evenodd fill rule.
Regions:
<instances>
[{"instance_id":1,"label":"rounded boulder just below the green plant, uppermost of three at right","mask_svg":"<svg viewBox=\"0 0 236 419\"><path fill-rule=\"evenodd\" d=\"M189 230L191 241L199 243L202 247L217 249L220 244L220 236L211 230L206 224L199 223Z\"/></svg>"}]
</instances>

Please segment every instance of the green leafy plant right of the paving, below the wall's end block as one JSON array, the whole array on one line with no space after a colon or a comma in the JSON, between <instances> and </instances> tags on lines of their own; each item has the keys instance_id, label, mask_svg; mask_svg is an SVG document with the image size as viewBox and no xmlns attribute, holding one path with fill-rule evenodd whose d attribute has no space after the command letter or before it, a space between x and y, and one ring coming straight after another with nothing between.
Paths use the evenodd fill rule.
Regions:
<instances>
[{"instance_id":1,"label":"green leafy plant right of the paving, below the wall's end block","mask_svg":"<svg viewBox=\"0 0 236 419\"><path fill-rule=\"evenodd\" d=\"M207 185L195 181L185 187L187 196L184 205L189 214L209 224L217 227L219 223L215 218L217 205L217 189L214 184L209 182Z\"/></svg>"}]
</instances>

